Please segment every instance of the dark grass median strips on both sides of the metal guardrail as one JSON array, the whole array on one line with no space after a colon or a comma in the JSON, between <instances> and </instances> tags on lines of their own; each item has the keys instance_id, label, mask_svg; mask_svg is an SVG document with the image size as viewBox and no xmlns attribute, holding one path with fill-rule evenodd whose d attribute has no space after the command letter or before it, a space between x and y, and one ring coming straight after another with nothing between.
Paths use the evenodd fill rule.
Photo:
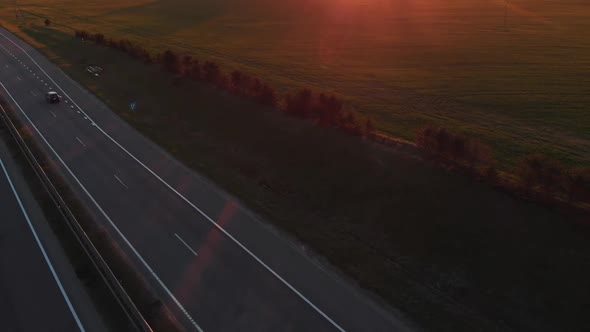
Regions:
<instances>
[{"instance_id":1,"label":"dark grass median strips on both sides of the metal guardrail","mask_svg":"<svg viewBox=\"0 0 590 332\"><path fill-rule=\"evenodd\" d=\"M15 124L17 130L23 137L25 144L33 153L37 162L41 165L51 183L55 186L60 196L66 202L68 208L77 221L82 226L84 232L88 235L96 249L109 265L119 282L125 288L125 291L131 297L137 308L142 313L150 326L156 331L180 331L181 328L163 306L163 302L158 299L155 292L150 288L147 281L135 269L125 252L118 246L108 233L99 226L93 219L88 210L79 201L73 193L65 179L59 174L55 164L47 157L41 146L36 142L28 130L29 127L23 125L14 114L14 110L0 97L0 104L7 111L10 120ZM88 287L90 294L98 305L99 309L105 316L105 322L113 331L122 331L133 328L125 313L113 297L108 286L102 282L99 272L92 265L88 256L84 253L80 242L76 239L72 230L68 227L55 206L55 203L45 191L45 188L39 182L37 175L28 164L26 157L19 150L17 142L5 128L4 123L0 124L2 138L9 143L12 152L17 156L17 161L21 164L23 171L27 175L27 182L33 188L35 198L40 202L43 212L50 226L60 239L66 254L70 258L78 277L83 280Z\"/></svg>"}]
</instances>

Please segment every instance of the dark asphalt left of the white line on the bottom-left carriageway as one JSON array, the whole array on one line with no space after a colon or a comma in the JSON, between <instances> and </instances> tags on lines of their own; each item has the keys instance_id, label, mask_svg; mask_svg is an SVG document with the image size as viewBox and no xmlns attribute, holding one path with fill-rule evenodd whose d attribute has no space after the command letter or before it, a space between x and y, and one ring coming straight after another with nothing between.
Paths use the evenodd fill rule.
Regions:
<instances>
[{"instance_id":1,"label":"dark asphalt left of the white line on the bottom-left carriageway","mask_svg":"<svg viewBox=\"0 0 590 332\"><path fill-rule=\"evenodd\" d=\"M2 328L11 331L85 331L1 157L0 210Z\"/></svg>"}]
</instances>

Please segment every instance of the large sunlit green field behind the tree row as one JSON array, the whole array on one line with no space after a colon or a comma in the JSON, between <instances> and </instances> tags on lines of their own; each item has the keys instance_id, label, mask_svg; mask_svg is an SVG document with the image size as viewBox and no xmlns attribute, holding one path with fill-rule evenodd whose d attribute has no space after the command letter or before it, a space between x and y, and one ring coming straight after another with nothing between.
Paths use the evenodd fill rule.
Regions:
<instances>
[{"instance_id":1,"label":"large sunlit green field behind the tree row","mask_svg":"<svg viewBox=\"0 0 590 332\"><path fill-rule=\"evenodd\" d=\"M580 0L21 0L55 24L344 96L380 130L441 124L510 165L590 164L590 10ZM12 1L5 1L13 8Z\"/></svg>"}]
</instances>

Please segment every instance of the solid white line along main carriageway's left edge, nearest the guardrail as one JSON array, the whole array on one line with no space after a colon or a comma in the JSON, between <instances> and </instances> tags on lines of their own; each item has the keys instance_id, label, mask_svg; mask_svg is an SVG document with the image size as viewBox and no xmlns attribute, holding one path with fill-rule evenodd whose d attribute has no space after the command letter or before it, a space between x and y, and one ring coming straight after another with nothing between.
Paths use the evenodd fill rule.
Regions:
<instances>
[{"instance_id":1,"label":"solid white line along main carriageway's left edge, nearest the guardrail","mask_svg":"<svg viewBox=\"0 0 590 332\"><path fill-rule=\"evenodd\" d=\"M4 34L2 34L1 32L0 32L0 35L3 35L4 36ZM4 37L6 37L6 36L4 36ZM35 61L33 60L33 62L35 62ZM37 66L39 66L39 65L37 65ZM39 68L41 68L41 67L39 67ZM43 69L41 69L41 70L43 70ZM6 93L8 93L8 96L10 97L10 99L12 99L12 102L14 102L14 104L18 107L19 111L27 119L27 121L31 124L31 126L33 127L33 129L35 129L35 132L37 132L37 134L39 135L39 137L41 137L41 139L49 147L49 149L51 150L51 152L53 152L53 154L57 157L57 159L64 166L64 168L66 169L66 171L70 174L70 176L74 179L74 181L76 181L76 183L80 186L80 188L82 188L82 191L84 191L84 193L88 196L88 198L96 206L96 208L98 209L98 211L100 211L100 213L109 222L109 224L111 225L111 227L113 227L113 229L117 232L117 234L119 234L119 236L121 237L121 239L123 239L123 242L125 242L125 244L131 249L131 251L133 252L133 254L139 259L139 261L143 264L143 266L145 266L145 268L152 275L152 277L154 277L154 279L156 279L156 281L158 282L158 284L160 285L160 287L162 287L162 289L164 289L164 291L168 294L168 296L170 296L170 298L172 299L172 301L174 301L174 303L176 304L176 306L178 306L178 308L182 311L182 313L184 313L184 315L186 316L186 318L193 324L193 326L199 332L204 332L203 329L201 329L201 327L197 324L197 322L195 322L195 320L191 317L191 315L188 313L188 311L186 311L186 309L180 303L180 301L178 301L178 299L176 298L176 296L174 296L174 294L172 293L172 291L170 291L170 289L166 286L166 284L164 284L164 282L162 281L162 279L160 279L160 277L156 274L156 272L154 272L154 270L152 269L152 267L139 254L139 252L137 251L137 249L135 249L135 247L131 244L131 242L129 242L129 240L125 237L125 235L123 235L123 232L121 232L121 230L119 229L119 227L117 227L117 225L115 225L115 223L113 222L113 220L111 219L111 217L109 217L109 215L103 210L102 206L100 206L98 204L98 202L96 201L96 199L94 199L94 196L92 196L90 194L90 192L88 191L88 189L86 189L86 187L82 184L82 182L80 182L80 180L78 179L78 177L76 177L76 175L70 169L70 167L65 163L65 161L61 158L61 156L57 153L57 151L55 151L55 149L53 148L53 146L51 144L49 144L49 141L47 141L47 139L45 138L45 136L43 136L43 134L41 134L41 131L39 131L39 128L37 128L37 126L35 126L35 124L31 120L31 118L29 118L29 116L27 115L27 113L25 113L25 111L22 109L22 107L20 106L20 104L14 99L14 97L8 91L8 89L6 89L6 86L4 86L4 84L2 82L0 82L0 85L2 86L2 88L4 89L4 91L6 91ZM60 88L60 90L62 90L62 89ZM62 92L63 92L63 90L62 90ZM0 105L0 107L2 107L2 105ZM4 108L2 108L2 109L4 109Z\"/></svg>"}]
</instances>

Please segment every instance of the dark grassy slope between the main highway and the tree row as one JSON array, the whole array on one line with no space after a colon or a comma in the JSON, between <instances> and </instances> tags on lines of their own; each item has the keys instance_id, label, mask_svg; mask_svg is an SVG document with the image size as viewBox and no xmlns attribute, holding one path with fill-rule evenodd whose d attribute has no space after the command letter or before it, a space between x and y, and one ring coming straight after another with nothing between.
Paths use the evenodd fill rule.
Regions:
<instances>
[{"instance_id":1,"label":"dark grassy slope between the main highway and the tree row","mask_svg":"<svg viewBox=\"0 0 590 332\"><path fill-rule=\"evenodd\" d=\"M587 223L420 156L176 81L72 34L21 28L144 135L426 330L576 331L590 323ZM103 74L85 72L89 63Z\"/></svg>"}]
</instances>

